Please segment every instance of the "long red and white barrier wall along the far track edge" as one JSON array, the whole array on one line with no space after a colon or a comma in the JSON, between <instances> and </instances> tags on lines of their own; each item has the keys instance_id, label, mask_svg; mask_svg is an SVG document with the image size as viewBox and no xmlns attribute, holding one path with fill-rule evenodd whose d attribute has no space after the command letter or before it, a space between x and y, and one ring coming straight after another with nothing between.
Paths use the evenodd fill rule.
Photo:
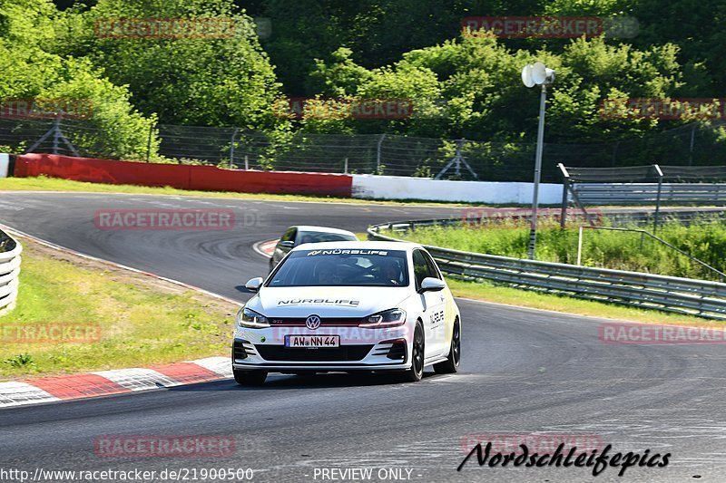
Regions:
<instances>
[{"instance_id":1,"label":"long red and white barrier wall along the far track edge","mask_svg":"<svg viewBox=\"0 0 726 483\"><path fill-rule=\"evenodd\" d=\"M366 199L421 199L490 204L528 204L532 183L449 181L402 176L346 175L294 171L219 169L214 166L155 164L110 159L24 154L15 177L49 176L92 183L169 186L203 191L281 193ZM562 200L562 185L542 183L540 203Z\"/></svg>"}]
</instances>

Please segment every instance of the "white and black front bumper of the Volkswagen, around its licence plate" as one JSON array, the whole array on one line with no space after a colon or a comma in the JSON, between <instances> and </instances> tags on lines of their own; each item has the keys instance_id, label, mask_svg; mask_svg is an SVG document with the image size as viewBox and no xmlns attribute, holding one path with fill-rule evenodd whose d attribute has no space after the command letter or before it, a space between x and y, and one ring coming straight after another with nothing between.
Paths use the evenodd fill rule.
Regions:
<instances>
[{"instance_id":1,"label":"white and black front bumper of the Volkswagen, around its licence plate","mask_svg":"<svg viewBox=\"0 0 726 483\"><path fill-rule=\"evenodd\" d=\"M237 328L232 367L242 371L402 371L410 367L407 327ZM285 347L287 335L338 335L338 348Z\"/></svg>"}]
</instances>

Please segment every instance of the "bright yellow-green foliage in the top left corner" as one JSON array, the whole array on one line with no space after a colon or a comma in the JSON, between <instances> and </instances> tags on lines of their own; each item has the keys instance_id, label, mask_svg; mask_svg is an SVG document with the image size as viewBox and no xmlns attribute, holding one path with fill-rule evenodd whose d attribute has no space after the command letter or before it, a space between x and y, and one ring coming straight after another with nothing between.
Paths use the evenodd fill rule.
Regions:
<instances>
[{"instance_id":1,"label":"bright yellow-green foliage in the top left corner","mask_svg":"<svg viewBox=\"0 0 726 483\"><path fill-rule=\"evenodd\" d=\"M77 100L91 108L88 128L97 130L73 137L80 150L140 158L153 117L135 111L128 89L109 82L92 63L52 52L66 21L50 0L6 0L0 6L0 99L67 100L71 105Z\"/></svg>"}]
</instances>

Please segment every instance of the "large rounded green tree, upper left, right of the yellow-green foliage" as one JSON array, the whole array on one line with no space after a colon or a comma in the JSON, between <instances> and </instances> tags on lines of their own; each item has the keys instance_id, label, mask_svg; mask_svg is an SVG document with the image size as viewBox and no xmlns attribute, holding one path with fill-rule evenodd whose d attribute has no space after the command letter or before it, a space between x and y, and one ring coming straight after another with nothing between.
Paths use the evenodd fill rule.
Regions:
<instances>
[{"instance_id":1,"label":"large rounded green tree, upper left, right of the yellow-green foliage","mask_svg":"<svg viewBox=\"0 0 726 483\"><path fill-rule=\"evenodd\" d=\"M87 56L111 82L128 85L146 115L169 124L261 130L284 125L270 109L279 95L272 66L250 17L231 1L101 0L79 15L85 28L66 39L64 52ZM118 18L216 18L231 28L181 38L97 35L99 25Z\"/></svg>"}]
</instances>

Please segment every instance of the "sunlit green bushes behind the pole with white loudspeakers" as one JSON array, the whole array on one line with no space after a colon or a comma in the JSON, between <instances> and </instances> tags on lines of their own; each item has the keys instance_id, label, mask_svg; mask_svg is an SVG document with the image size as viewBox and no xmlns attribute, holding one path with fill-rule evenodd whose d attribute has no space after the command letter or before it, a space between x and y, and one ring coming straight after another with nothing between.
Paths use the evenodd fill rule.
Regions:
<instances>
[{"instance_id":1,"label":"sunlit green bushes behind the pole with white loudspeakers","mask_svg":"<svg viewBox=\"0 0 726 483\"><path fill-rule=\"evenodd\" d=\"M652 121L603 120L599 103L608 97L665 97L681 85L672 44L639 51L610 45L602 38L577 39L561 53L512 51L488 34L405 53L393 66L365 70L338 51L330 64L318 62L311 77L323 92L362 99L410 99L410 120L335 124L306 120L309 130L396 132L414 136L475 140L532 140L535 135L535 92L519 81L526 63L540 60L557 71L547 111L550 142L593 141L641 134Z\"/></svg>"}]
</instances>

